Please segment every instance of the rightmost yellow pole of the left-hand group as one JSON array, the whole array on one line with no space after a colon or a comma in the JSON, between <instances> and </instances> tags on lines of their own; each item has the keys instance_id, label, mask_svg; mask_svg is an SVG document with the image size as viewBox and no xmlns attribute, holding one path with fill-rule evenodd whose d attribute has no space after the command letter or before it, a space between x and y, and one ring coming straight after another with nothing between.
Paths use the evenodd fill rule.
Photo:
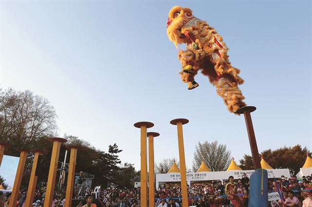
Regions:
<instances>
[{"instance_id":1,"label":"rightmost yellow pole of the left-hand group","mask_svg":"<svg viewBox=\"0 0 312 207\"><path fill-rule=\"evenodd\" d=\"M76 169L76 159L77 159L77 147L70 147L70 160L69 160L69 170L66 186L66 197L65 197L65 207L72 206L73 199L73 189L75 183L75 169Z\"/></svg>"}]
</instances>

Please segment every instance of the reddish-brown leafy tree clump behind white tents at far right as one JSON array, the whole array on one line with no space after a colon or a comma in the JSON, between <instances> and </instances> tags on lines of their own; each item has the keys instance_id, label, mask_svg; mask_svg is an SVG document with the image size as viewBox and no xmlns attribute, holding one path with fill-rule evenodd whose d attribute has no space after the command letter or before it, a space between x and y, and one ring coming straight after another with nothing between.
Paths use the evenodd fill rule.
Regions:
<instances>
[{"instance_id":1,"label":"reddish-brown leafy tree clump behind white tents at far right","mask_svg":"<svg viewBox=\"0 0 312 207\"><path fill-rule=\"evenodd\" d=\"M293 147L284 146L276 150L264 150L259 156L262 155L263 159L274 169L288 168L290 173L295 175L305 163L307 153L311 156L311 152L307 147L302 148L301 145L297 144ZM244 158L239 160L239 162L243 169L254 169L254 162L250 155L244 155Z\"/></svg>"}]
</instances>

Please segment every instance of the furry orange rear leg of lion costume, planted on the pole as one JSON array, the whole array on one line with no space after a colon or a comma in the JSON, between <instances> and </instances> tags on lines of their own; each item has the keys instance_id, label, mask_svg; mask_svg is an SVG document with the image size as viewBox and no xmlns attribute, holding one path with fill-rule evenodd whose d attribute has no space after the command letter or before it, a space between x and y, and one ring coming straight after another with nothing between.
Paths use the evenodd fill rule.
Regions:
<instances>
[{"instance_id":1,"label":"furry orange rear leg of lion costume, planted on the pole","mask_svg":"<svg viewBox=\"0 0 312 207\"><path fill-rule=\"evenodd\" d=\"M243 102L245 97L231 76L222 75L215 86L217 94L223 98L230 112L235 112L240 107L246 106Z\"/></svg>"}]
</instances>

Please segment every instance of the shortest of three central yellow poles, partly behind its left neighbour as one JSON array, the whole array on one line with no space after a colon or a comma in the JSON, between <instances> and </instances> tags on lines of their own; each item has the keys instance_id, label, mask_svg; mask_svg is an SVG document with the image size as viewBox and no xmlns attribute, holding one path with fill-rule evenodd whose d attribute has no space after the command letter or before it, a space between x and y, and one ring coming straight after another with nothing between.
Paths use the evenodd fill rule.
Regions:
<instances>
[{"instance_id":1,"label":"shortest of three central yellow poles, partly behind its left neighbour","mask_svg":"<svg viewBox=\"0 0 312 207\"><path fill-rule=\"evenodd\" d=\"M157 132L148 132L148 178L149 178L149 207L155 207L155 181L154 181L154 138L158 137Z\"/></svg>"}]
</instances>

